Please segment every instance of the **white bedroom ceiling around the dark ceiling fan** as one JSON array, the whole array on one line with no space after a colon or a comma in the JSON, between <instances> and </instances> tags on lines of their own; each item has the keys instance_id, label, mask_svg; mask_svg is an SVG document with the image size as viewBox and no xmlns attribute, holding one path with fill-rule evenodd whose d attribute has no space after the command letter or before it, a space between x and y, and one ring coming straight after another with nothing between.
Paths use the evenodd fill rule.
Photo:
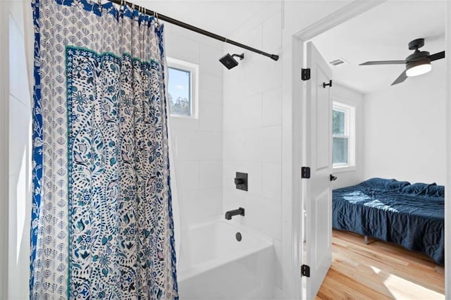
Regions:
<instances>
[{"instance_id":1,"label":"white bedroom ceiling around the dark ceiling fan","mask_svg":"<svg viewBox=\"0 0 451 300\"><path fill-rule=\"evenodd\" d=\"M422 51L435 54L445 50L445 5L445 1L387 1L312 41L327 62L337 58L347 62L330 65L336 82L363 94L393 88L396 86L390 85L404 65L359 63L403 60L413 53L407 44L418 38L425 39ZM434 61L431 73L434 64L444 62ZM407 80L421 80L422 76Z\"/></svg>"}]
</instances>

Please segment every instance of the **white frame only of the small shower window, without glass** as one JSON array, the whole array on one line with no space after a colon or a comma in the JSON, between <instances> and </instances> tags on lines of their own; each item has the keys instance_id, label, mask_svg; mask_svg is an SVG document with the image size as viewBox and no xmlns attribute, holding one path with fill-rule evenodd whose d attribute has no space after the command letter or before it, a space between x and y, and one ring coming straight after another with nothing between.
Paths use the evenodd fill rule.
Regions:
<instances>
[{"instance_id":1,"label":"white frame only of the small shower window, without glass","mask_svg":"<svg viewBox=\"0 0 451 300\"><path fill-rule=\"evenodd\" d=\"M169 106L169 116L171 118L189 118L198 119L199 118L199 65L196 63L190 63L187 61L182 61L177 58L166 57L166 65L168 68L168 79L167 79L167 89L169 89L169 68L180 70L183 72L190 73L190 115L175 115L171 112L171 105ZM169 94L169 91L168 91Z\"/></svg>"}]
</instances>

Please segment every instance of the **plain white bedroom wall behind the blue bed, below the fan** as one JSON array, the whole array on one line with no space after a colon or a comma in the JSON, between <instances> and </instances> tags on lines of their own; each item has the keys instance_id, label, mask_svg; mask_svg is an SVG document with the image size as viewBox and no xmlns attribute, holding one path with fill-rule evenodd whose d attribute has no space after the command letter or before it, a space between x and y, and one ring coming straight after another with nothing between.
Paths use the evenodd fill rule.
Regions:
<instances>
[{"instance_id":1,"label":"plain white bedroom wall behind the blue bed, below the fan","mask_svg":"<svg viewBox=\"0 0 451 300\"><path fill-rule=\"evenodd\" d=\"M445 184L445 60L364 97L364 177Z\"/></svg>"}]
</instances>

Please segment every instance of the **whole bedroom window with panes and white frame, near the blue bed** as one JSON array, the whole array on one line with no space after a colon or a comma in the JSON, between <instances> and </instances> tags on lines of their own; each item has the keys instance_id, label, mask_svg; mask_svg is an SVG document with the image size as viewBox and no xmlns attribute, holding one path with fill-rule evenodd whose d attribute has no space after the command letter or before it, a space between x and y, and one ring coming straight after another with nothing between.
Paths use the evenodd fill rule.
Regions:
<instances>
[{"instance_id":1,"label":"whole bedroom window with panes and white frame, near the blue bed","mask_svg":"<svg viewBox=\"0 0 451 300\"><path fill-rule=\"evenodd\" d=\"M355 108L333 102L333 168L355 165Z\"/></svg>"}]
</instances>

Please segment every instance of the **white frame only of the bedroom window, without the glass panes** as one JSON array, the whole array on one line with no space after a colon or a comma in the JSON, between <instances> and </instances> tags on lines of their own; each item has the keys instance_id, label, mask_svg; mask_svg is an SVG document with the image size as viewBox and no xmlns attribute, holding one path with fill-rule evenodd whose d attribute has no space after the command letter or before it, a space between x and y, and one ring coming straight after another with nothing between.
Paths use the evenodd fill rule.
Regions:
<instances>
[{"instance_id":1,"label":"white frame only of the bedroom window, without the glass panes","mask_svg":"<svg viewBox=\"0 0 451 300\"><path fill-rule=\"evenodd\" d=\"M347 138L347 163L332 163L332 168L335 172L346 172L355 170L355 110L356 107L350 104L344 104L340 101L333 101L333 111L340 111L345 113L345 130L343 135L334 135L332 130L332 141L334 137ZM333 114L332 114L333 115ZM332 149L333 151L333 149Z\"/></svg>"}]
</instances>

